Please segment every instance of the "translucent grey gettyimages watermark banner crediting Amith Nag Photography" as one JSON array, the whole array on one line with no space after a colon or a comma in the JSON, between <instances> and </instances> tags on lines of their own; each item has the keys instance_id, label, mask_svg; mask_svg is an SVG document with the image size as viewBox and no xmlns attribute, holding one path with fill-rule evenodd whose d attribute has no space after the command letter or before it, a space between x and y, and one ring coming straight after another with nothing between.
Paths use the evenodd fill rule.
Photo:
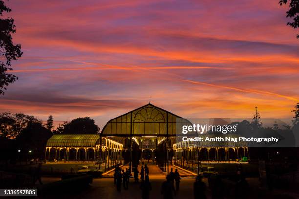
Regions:
<instances>
[{"instance_id":1,"label":"translucent grey gettyimages watermark banner crediting Amith Nag Photography","mask_svg":"<svg viewBox=\"0 0 299 199\"><path fill-rule=\"evenodd\" d=\"M210 118L176 120L176 143L198 147L299 147L292 119Z\"/></svg>"}]
</instances>

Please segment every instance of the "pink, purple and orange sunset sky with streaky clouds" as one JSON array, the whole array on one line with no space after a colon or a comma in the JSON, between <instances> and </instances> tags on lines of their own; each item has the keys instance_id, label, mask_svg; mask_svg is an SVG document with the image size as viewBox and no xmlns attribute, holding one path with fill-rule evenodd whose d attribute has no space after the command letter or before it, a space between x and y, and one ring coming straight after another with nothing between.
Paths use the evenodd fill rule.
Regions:
<instances>
[{"instance_id":1,"label":"pink, purple and orange sunset sky with streaky clouds","mask_svg":"<svg viewBox=\"0 0 299 199\"><path fill-rule=\"evenodd\" d=\"M0 112L102 128L150 96L185 118L292 117L298 30L278 1L10 0L24 54Z\"/></svg>"}]
</instances>

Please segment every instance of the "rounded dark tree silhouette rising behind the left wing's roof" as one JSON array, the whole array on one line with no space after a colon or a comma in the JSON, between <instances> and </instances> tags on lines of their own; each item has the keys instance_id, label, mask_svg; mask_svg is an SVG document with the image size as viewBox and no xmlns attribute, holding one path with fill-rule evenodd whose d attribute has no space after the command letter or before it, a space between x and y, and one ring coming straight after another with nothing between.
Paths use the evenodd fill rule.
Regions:
<instances>
[{"instance_id":1,"label":"rounded dark tree silhouette rising behind the left wing's roof","mask_svg":"<svg viewBox=\"0 0 299 199\"><path fill-rule=\"evenodd\" d=\"M94 120L85 117L73 119L71 122L65 122L62 134L98 134L100 128L94 123Z\"/></svg>"}]
</instances>

